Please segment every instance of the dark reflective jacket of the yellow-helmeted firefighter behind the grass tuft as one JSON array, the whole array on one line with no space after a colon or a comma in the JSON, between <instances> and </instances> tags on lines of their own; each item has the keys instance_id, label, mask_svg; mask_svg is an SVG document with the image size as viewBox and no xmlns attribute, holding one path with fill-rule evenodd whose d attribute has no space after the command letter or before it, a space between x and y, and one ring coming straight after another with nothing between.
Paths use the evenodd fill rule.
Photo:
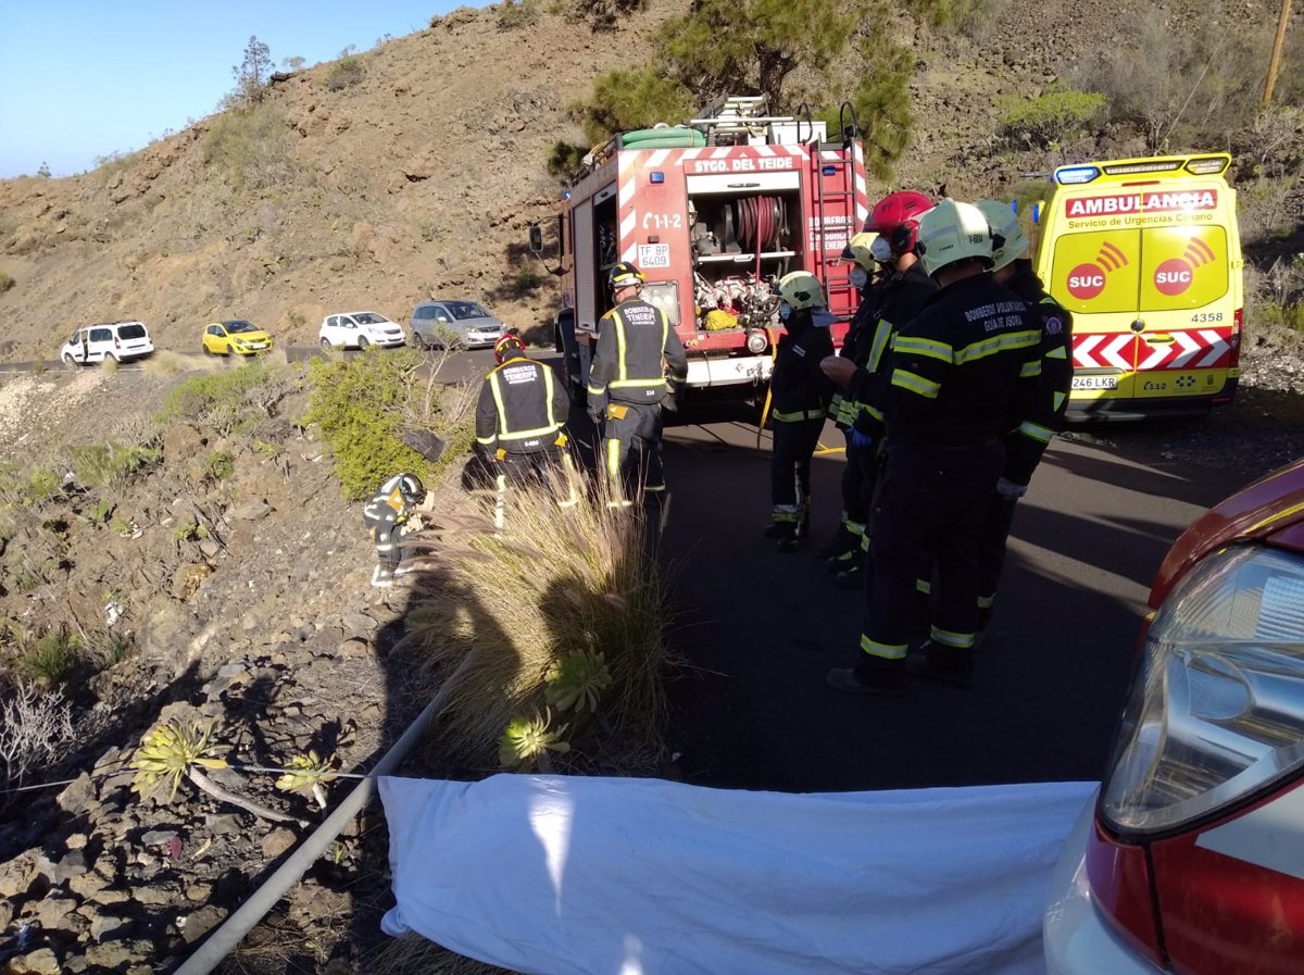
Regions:
<instances>
[{"instance_id":1,"label":"dark reflective jacket of the yellow-helmeted firefighter behind the grass tuft","mask_svg":"<svg viewBox=\"0 0 1304 975\"><path fill-rule=\"evenodd\" d=\"M677 381L689 377L689 356L665 312L630 298L597 322L597 348L588 370L588 395L615 403L648 404L665 399L665 365Z\"/></svg>"}]
</instances>

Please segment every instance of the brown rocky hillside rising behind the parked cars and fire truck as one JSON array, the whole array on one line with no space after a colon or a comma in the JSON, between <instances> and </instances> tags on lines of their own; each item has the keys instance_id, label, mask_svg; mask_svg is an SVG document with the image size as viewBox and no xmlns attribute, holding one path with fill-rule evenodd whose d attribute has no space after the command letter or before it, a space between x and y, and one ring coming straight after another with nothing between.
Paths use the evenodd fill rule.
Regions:
<instances>
[{"instance_id":1,"label":"brown rocky hillside rising behind the parked cars and fire truck","mask_svg":"<svg viewBox=\"0 0 1304 975\"><path fill-rule=\"evenodd\" d=\"M1180 30L1193 10L1267 23L1277 3L1155 7ZM486 300L522 327L550 318L553 279L524 248L527 226L556 212L546 153L579 138L567 108L592 78L686 8L652 0L618 33L542 12L505 27L493 8L462 8L348 65L278 77L257 124L216 115L83 176L0 181L0 271L14 282L0 293L0 360L50 358L73 326L116 318L186 352L231 317L313 343L326 312L399 318L437 293ZM981 9L965 33L895 21L917 53L900 185L991 194L1045 167L995 143L1000 99L1038 94L1116 42L1134 5ZM1140 143L1124 132L1101 149Z\"/></svg>"}]
</instances>

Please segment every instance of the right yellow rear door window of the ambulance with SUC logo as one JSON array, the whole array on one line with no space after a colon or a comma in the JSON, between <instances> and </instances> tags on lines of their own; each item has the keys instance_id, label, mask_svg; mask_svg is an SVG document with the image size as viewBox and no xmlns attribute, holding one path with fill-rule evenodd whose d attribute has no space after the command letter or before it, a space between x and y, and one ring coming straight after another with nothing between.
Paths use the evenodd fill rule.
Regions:
<instances>
[{"instance_id":1,"label":"right yellow rear door window of the ambulance with SUC logo","mask_svg":"<svg viewBox=\"0 0 1304 975\"><path fill-rule=\"evenodd\" d=\"M1227 228L1215 224L1141 231L1141 310L1202 308L1227 295Z\"/></svg>"}]
</instances>

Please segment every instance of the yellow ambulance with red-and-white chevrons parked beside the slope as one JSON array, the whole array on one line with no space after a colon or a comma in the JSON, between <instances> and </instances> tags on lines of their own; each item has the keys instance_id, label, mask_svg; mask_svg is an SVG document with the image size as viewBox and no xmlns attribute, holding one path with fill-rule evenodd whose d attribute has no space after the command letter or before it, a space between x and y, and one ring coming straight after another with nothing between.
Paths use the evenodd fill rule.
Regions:
<instances>
[{"instance_id":1,"label":"yellow ambulance with red-and-white chevrons parked beside the slope","mask_svg":"<svg viewBox=\"0 0 1304 975\"><path fill-rule=\"evenodd\" d=\"M1243 258L1227 154L1061 166L1037 272L1073 313L1071 420L1192 416L1240 375Z\"/></svg>"}]
</instances>

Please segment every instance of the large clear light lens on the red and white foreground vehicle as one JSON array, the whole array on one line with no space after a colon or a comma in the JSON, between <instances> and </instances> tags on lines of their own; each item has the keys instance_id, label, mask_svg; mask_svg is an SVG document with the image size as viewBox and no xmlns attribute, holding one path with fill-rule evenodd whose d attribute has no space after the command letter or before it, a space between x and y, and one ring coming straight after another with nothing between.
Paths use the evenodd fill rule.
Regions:
<instances>
[{"instance_id":1,"label":"large clear light lens on the red and white foreground vehicle","mask_svg":"<svg viewBox=\"0 0 1304 975\"><path fill-rule=\"evenodd\" d=\"M1304 768L1304 559L1223 549L1159 607L1101 789L1102 824L1155 839Z\"/></svg>"}]
</instances>

